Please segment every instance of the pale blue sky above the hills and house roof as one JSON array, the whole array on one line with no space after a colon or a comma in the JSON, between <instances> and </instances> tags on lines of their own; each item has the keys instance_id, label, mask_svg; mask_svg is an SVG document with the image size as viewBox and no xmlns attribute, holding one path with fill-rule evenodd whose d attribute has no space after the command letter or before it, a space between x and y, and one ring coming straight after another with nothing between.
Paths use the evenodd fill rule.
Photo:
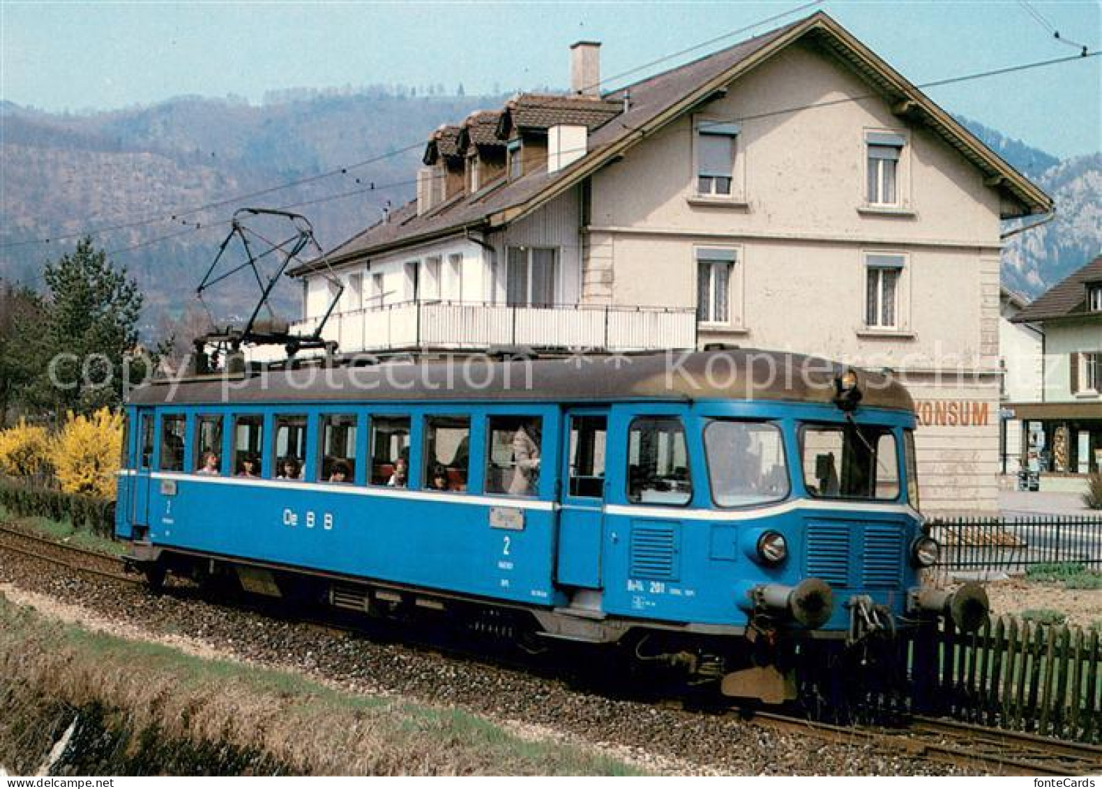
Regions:
<instances>
[{"instance_id":1,"label":"pale blue sky above the hills and house roof","mask_svg":"<svg viewBox=\"0 0 1102 789\"><path fill-rule=\"evenodd\" d=\"M371 83L449 91L462 83L468 95L564 88L568 47L579 39L604 43L608 77L799 4L0 0L0 97L77 111L182 94L259 101L266 90ZM1102 46L1098 0L1029 7L1065 39ZM820 8L916 83L1076 53L1019 0L828 0ZM1057 155L1102 150L1102 57L929 94Z\"/></svg>"}]
</instances>

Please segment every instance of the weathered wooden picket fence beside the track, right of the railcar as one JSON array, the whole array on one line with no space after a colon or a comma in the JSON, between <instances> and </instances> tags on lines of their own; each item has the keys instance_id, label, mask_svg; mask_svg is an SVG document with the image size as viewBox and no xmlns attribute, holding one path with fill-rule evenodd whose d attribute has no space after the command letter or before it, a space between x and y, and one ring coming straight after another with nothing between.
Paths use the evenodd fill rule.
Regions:
<instances>
[{"instance_id":1,"label":"weathered wooden picket fence beside the track, right of the railcar","mask_svg":"<svg viewBox=\"0 0 1102 789\"><path fill-rule=\"evenodd\" d=\"M916 712L1102 743L1102 637L1095 629L998 617L974 634L951 623L915 634Z\"/></svg>"}]
</instances>

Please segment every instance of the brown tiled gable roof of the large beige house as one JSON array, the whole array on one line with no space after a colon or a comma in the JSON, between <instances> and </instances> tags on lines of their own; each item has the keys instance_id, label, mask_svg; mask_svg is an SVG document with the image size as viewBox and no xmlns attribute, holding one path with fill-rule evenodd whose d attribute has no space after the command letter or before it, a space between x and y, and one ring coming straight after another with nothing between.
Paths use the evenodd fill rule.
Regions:
<instances>
[{"instance_id":1,"label":"brown tiled gable roof of the large beige house","mask_svg":"<svg viewBox=\"0 0 1102 789\"><path fill-rule=\"evenodd\" d=\"M890 95L890 90L905 89L904 95L912 97L926 110L940 114L930 119L932 128L950 139L951 144L968 155L985 173L1002 177L1008 184L1006 188L1013 190L1013 194L1023 205L1035 213L1051 209L1051 199L1044 192L998 159L943 110L926 99L917 88L892 72L890 67L875 60L875 55L865 54L866 51L861 43L849 36L830 17L818 12L606 94L599 104L617 107L617 115L590 132L586 142L588 152L570 166L555 173L534 170L512 181L500 179L473 195L464 195L463 199L446 208L422 216L417 216L413 212L413 217L402 224L396 224L392 219L390 223L376 225L331 250L324 260L343 262L414 241L428 241L454 235L464 229L488 228L491 220L495 227L515 221L544 202L562 194L579 180L653 133L662 125L706 100L710 93L722 89L727 80L738 75L738 67L755 55L771 54L769 48L776 42L786 37L791 42L803 35L820 36L835 48L845 48L855 60L861 57L872 62L875 66L873 68L875 78L879 80L877 85L886 96ZM873 77L869 76L869 79ZM626 112L623 111L625 94L629 97ZM562 97L562 99L564 105L579 100L576 97ZM594 99L581 100L597 104ZM461 149L466 144L464 137L469 137L471 141L480 145L504 145L505 141L496 134L500 115L500 111L480 111L468 116L462 126L458 140ZM923 116L923 119L926 118ZM321 264L321 260L323 259L305 263L291 273L300 274L316 268Z\"/></svg>"}]
</instances>

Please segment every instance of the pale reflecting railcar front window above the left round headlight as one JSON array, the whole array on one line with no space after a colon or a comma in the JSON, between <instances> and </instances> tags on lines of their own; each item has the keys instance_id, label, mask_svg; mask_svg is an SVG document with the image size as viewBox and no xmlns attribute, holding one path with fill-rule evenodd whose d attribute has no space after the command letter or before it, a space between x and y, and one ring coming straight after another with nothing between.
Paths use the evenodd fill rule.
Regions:
<instances>
[{"instance_id":1,"label":"pale reflecting railcar front window above the left round headlight","mask_svg":"<svg viewBox=\"0 0 1102 789\"><path fill-rule=\"evenodd\" d=\"M788 496L788 464L780 428L768 422L714 420L704 429L712 500L747 507Z\"/></svg>"}]
</instances>

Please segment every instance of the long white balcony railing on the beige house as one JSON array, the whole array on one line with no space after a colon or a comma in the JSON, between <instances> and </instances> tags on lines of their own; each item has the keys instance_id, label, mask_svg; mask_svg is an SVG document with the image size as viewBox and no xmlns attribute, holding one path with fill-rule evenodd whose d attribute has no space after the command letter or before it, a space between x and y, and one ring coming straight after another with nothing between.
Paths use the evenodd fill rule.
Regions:
<instances>
[{"instance_id":1,"label":"long white balcony railing on the beige house","mask_svg":"<svg viewBox=\"0 0 1102 789\"><path fill-rule=\"evenodd\" d=\"M295 323L311 334L318 318ZM486 350L490 347L660 350L696 346L696 313L687 307L603 305L508 306L472 302L402 302L334 313L322 332L339 353Z\"/></svg>"}]
</instances>

